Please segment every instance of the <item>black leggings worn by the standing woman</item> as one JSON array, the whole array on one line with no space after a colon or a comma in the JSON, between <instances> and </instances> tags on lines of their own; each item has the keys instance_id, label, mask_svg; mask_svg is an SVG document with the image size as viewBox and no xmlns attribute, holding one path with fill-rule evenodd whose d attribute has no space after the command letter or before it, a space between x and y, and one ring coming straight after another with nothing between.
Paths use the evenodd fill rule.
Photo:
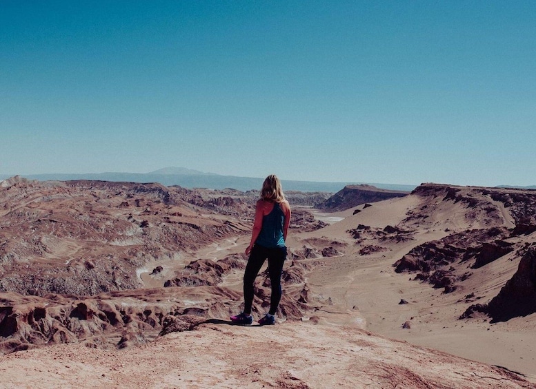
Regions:
<instances>
[{"instance_id":1,"label":"black leggings worn by the standing woman","mask_svg":"<svg viewBox=\"0 0 536 389\"><path fill-rule=\"evenodd\" d=\"M248 315L251 313L251 305L253 304L253 283L266 258L268 258L268 273L270 274L270 285L272 286L270 315L275 315L277 306L279 306L279 300L281 299L281 272L286 259L286 247L271 249L255 244L251 249L246 271L244 271L244 313Z\"/></svg>"}]
</instances>

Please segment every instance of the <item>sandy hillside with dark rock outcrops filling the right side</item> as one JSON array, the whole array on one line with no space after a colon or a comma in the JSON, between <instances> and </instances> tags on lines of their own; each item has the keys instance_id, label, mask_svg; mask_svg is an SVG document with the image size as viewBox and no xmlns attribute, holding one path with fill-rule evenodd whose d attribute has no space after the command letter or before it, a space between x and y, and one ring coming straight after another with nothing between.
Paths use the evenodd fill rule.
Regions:
<instances>
[{"instance_id":1,"label":"sandy hillside with dark rock outcrops filling the right side","mask_svg":"<svg viewBox=\"0 0 536 389\"><path fill-rule=\"evenodd\" d=\"M375 333L536 377L535 200L522 189L426 184L349 209L302 235L350 237L310 284L330 293L332 310L357 308Z\"/></svg>"}]
</instances>

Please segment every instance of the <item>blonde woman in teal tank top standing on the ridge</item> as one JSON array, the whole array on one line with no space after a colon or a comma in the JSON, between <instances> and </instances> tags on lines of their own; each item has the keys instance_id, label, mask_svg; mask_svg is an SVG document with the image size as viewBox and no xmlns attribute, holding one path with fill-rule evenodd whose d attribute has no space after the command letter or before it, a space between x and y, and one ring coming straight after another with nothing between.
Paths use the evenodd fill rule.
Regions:
<instances>
[{"instance_id":1,"label":"blonde woman in teal tank top standing on the ridge","mask_svg":"<svg viewBox=\"0 0 536 389\"><path fill-rule=\"evenodd\" d=\"M272 287L270 311L259 320L259 324L261 326L275 324L275 313L281 299L281 271L286 259L285 241L288 224L290 224L290 205L285 200L279 178L271 174L266 177L262 185L261 198L255 207L251 242L246 248L246 254L250 257L244 272L244 311L231 316L231 322L241 325L252 324L253 283L264 260L268 258L268 273Z\"/></svg>"}]
</instances>

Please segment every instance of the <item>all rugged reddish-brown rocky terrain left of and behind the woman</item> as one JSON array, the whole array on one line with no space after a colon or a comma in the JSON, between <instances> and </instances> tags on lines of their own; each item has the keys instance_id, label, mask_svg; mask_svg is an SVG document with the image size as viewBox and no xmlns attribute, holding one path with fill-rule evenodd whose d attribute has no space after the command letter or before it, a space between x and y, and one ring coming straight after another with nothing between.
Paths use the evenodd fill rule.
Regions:
<instances>
[{"instance_id":1,"label":"all rugged reddish-brown rocky terrain left of and behind the woman","mask_svg":"<svg viewBox=\"0 0 536 389\"><path fill-rule=\"evenodd\" d=\"M292 192L289 199L308 205L319 196L328 195L312 193L308 198ZM244 255L217 262L195 258L201 247L249 236L258 198L254 191L12 178L2 182L0 198L4 352L78 339L108 346L139 343L163 330L168 315L193 309L202 317L226 317L232 307L224 300L239 300L236 292L218 286L230 273L244 271ZM304 210L296 211L293 221L293 231L325 225ZM299 251L294 255L300 257ZM303 277L299 262L285 271L284 282L298 285L281 302L286 316L300 316L299 304L286 300L306 298ZM150 292L143 278L148 284L179 286L187 292ZM192 299L192 287L198 286L213 286L204 292L208 302L188 307L183 299ZM193 294L202 289L195 288ZM266 285L259 285L259 293L266 295ZM128 340L117 343L116 337Z\"/></svg>"}]
</instances>

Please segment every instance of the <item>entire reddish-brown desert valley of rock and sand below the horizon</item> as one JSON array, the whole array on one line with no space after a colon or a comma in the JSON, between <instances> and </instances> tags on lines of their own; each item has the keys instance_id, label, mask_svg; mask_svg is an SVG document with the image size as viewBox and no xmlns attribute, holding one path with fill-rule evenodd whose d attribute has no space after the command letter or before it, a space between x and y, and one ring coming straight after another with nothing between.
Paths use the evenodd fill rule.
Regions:
<instances>
[{"instance_id":1,"label":"entire reddish-brown desert valley of rock and sand below the horizon","mask_svg":"<svg viewBox=\"0 0 536 389\"><path fill-rule=\"evenodd\" d=\"M258 196L1 181L0 388L536 388L535 190L286 191L277 325L231 326Z\"/></svg>"}]
</instances>

